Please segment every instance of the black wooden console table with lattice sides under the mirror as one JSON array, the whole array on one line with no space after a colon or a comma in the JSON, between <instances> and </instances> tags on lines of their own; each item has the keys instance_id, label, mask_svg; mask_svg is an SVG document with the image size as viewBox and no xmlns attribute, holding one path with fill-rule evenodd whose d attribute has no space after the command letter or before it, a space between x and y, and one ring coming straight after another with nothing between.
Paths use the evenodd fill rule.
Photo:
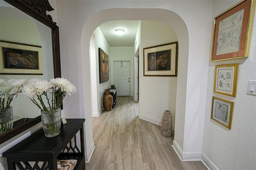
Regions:
<instances>
[{"instance_id":1,"label":"black wooden console table with lattice sides under the mirror","mask_svg":"<svg viewBox=\"0 0 256 170\"><path fill-rule=\"evenodd\" d=\"M47 138L41 128L2 155L7 158L8 170L58 170L58 160L77 160L74 170L85 170L85 119L66 119L60 134ZM78 135L80 134L80 135ZM76 140L80 138L80 142Z\"/></svg>"}]
</instances>

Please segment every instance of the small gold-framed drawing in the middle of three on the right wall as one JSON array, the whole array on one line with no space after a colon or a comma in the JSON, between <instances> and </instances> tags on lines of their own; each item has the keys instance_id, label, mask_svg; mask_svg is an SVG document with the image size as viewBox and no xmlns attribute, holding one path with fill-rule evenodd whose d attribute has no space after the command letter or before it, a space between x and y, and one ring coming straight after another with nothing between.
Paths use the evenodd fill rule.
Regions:
<instances>
[{"instance_id":1,"label":"small gold-framed drawing in the middle of three on the right wall","mask_svg":"<svg viewBox=\"0 0 256 170\"><path fill-rule=\"evenodd\" d=\"M236 97L238 64L216 65L214 92Z\"/></svg>"}]
</instances>

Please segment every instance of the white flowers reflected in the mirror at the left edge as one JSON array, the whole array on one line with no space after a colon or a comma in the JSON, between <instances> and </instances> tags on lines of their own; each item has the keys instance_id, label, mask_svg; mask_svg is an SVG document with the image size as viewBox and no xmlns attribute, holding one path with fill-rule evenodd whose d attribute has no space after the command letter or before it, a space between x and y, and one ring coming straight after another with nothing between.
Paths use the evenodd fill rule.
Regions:
<instances>
[{"instance_id":1,"label":"white flowers reflected in the mirror at the left edge","mask_svg":"<svg viewBox=\"0 0 256 170\"><path fill-rule=\"evenodd\" d=\"M13 99L21 92L26 79L0 79L0 110L8 109Z\"/></svg>"}]
</instances>

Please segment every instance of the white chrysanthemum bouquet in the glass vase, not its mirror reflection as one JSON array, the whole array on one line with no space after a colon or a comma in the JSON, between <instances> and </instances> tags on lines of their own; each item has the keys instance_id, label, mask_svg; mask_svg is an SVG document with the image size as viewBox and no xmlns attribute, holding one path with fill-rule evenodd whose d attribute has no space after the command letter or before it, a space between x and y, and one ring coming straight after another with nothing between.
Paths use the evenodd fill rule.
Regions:
<instances>
[{"instance_id":1,"label":"white chrysanthemum bouquet in the glass vase, not its mirror reflection","mask_svg":"<svg viewBox=\"0 0 256 170\"><path fill-rule=\"evenodd\" d=\"M76 87L64 78L50 79L50 82L40 79L30 79L22 87L22 95L29 98L42 111L54 111L62 105L66 94L76 92Z\"/></svg>"}]
</instances>

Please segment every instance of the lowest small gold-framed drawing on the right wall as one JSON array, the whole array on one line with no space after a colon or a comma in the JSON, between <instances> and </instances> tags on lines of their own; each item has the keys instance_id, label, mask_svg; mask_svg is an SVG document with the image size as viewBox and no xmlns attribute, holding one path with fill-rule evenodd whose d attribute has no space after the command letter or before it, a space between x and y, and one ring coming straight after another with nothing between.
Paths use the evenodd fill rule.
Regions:
<instances>
[{"instance_id":1,"label":"lowest small gold-framed drawing on the right wall","mask_svg":"<svg viewBox=\"0 0 256 170\"><path fill-rule=\"evenodd\" d=\"M234 103L232 101L213 96L211 119L231 129L233 105Z\"/></svg>"}]
</instances>

